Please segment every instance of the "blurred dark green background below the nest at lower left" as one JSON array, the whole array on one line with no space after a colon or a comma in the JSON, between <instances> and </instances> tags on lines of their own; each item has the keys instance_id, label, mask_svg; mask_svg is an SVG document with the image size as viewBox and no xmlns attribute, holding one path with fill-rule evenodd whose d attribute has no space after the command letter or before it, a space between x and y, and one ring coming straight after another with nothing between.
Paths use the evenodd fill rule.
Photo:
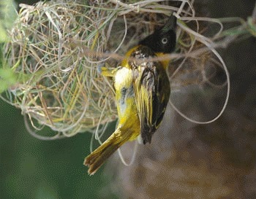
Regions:
<instances>
[{"instance_id":1,"label":"blurred dark green background below the nest at lower left","mask_svg":"<svg viewBox=\"0 0 256 199\"><path fill-rule=\"evenodd\" d=\"M0 198L99 198L108 179L101 170L89 176L83 165L90 133L41 141L27 132L20 110L3 101L0 109Z\"/></svg>"}]
</instances>

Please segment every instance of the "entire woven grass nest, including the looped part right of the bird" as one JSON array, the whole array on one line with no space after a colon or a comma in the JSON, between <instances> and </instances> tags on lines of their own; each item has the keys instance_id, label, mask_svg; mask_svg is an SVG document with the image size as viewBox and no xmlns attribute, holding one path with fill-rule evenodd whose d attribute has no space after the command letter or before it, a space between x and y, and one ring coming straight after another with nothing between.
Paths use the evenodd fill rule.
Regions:
<instances>
[{"instance_id":1,"label":"entire woven grass nest, including the looped part right of the bird","mask_svg":"<svg viewBox=\"0 0 256 199\"><path fill-rule=\"evenodd\" d=\"M206 26L199 28L190 2L53 0L20 7L4 58L7 66L26 78L10 87L2 98L28 115L35 130L46 125L59 132L53 138L95 128L100 132L105 124L116 120L112 79L102 77L97 68L106 63L116 67L130 47L164 24L173 12L180 18L176 53L167 55L173 60L168 70L172 93L184 93L176 88L181 82L197 85L200 90L207 82L207 87L215 90L210 93L225 90L228 98L225 63L210 45L217 45L211 42L221 38L221 31L202 36ZM214 20L210 23L219 24ZM226 74L220 85L209 81L217 68ZM200 95L203 101L211 98L204 95ZM217 114L202 118L217 118L227 98ZM174 107L179 106L176 101L178 97L173 94ZM179 110L184 113L185 108ZM184 116L191 118L189 111Z\"/></svg>"}]
</instances>

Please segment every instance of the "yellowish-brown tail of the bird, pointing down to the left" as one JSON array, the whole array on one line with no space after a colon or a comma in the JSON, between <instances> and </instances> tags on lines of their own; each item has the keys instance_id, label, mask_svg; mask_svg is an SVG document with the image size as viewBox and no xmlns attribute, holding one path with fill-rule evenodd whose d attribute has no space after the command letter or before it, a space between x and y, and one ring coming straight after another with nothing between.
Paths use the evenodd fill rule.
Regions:
<instances>
[{"instance_id":1,"label":"yellowish-brown tail of the bird, pointing down to the left","mask_svg":"<svg viewBox=\"0 0 256 199\"><path fill-rule=\"evenodd\" d=\"M116 152L116 150L124 144L126 140L124 140L120 134L121 129L117 128L101 146L86 157L83 164L89 167L88 173L90 175L93 175L105 160L107 160L113 152Z\"/></svg>"}]
</instances>

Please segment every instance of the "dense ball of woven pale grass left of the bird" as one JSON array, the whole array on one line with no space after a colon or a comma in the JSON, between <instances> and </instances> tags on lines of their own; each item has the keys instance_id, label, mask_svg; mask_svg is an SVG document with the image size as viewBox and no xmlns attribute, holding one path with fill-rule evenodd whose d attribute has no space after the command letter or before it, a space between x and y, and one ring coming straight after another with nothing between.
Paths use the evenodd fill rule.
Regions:
<instances>
[{"instance_id":1,"label":"dense ball of woven pale grass left of the bird","mask_svg":"<svg viewBox=\"0 0 256 199\"><path fill-rule=\"evenodd\" d=\"M35 129L47 125L64 136L116 120L112 82L97 67L109 58L104 52L116 52L123 44L122 54L136 42L127 37L132 26L137 28L135 38L146 32L146 15L127 15L133 25L125 27L123 16L134 8L111 1L39 1L20 7L4 58L7 66L26 76L8 90L5 100L27 114ZM147 20L155 17L153 13Z\"/></svg>"}]
</instances>

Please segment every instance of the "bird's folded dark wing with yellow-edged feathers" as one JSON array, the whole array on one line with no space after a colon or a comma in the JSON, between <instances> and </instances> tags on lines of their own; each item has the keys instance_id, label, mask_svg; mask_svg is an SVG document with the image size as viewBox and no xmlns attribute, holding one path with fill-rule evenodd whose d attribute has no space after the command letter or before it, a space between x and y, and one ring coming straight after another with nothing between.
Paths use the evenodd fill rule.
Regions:
<instances>
[{"instance_id":1,"label":"bird's folded dark wing with yellow-edged feathers","mask_svg":"<svg viewBox=\"0 0 256 199\"><path fill-rule=\"evenodd\" d=\"M151 61L146 65L133 71L135 101L144 144L151 142L151 137L165 114L170 95L169 81L162 65ZM167 85L163 87L163 84Z\"/></svg>"}]
</instances>

